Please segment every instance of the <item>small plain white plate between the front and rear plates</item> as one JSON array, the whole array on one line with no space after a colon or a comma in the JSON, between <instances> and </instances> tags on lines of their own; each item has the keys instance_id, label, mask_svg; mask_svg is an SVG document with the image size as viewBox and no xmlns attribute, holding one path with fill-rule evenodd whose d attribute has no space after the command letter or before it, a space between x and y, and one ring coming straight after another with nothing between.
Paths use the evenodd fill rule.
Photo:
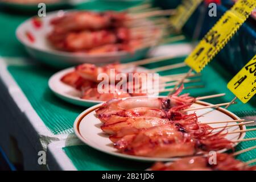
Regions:
<instances>
[{"instance_id":1,"label":"small plain white plate between the front and rear plates","mask_svg":"<svg viewBox=\"0 0 256 182\"><path fill-rule=\"evenodd\" d=\"M131 69L133 68L128 68L128 69L123 69L123 73L129 73L131 72ZM59 71L52 75L49 78L48 85L49 88L52 90L53 93L56 94L57 97L61 98L64 101L67 101L71 104L79 105L79 106L85 106L85 107L90 107L94 106L96 104L100 104L105 101L95 101L95 100L85 100L80 98L81 97L81 92L72 86L69 86L65 84L64 82L61 81L61 78L66 75L67 73L70 73L74 71L75 68L67 68L64 69L63 71ZM147 72L146 68L142 67L137 67L137 71L141 72Z\"/></svg>"}]
</instances>

